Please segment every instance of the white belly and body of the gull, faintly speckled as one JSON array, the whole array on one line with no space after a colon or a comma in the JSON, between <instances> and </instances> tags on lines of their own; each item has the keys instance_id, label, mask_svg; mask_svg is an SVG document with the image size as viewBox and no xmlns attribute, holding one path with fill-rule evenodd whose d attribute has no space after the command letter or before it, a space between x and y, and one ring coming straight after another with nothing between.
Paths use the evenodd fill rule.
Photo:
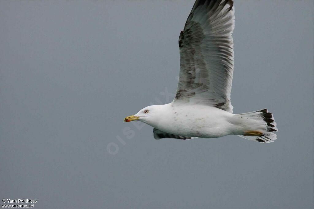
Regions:
<instances>
[{"instance_id":1,"label":"white belly and body of the gull, faintly speckled","mask_svg":"<svg viewBox=\"0 0 314 209\"><path fill-rule=\"evenodd\" d=\"M181 136L217 138L233 134L234 114L211 106L171 106L155 128ZM164 118L164 119L162 119Z\"/></svg>"}]
</instances>

